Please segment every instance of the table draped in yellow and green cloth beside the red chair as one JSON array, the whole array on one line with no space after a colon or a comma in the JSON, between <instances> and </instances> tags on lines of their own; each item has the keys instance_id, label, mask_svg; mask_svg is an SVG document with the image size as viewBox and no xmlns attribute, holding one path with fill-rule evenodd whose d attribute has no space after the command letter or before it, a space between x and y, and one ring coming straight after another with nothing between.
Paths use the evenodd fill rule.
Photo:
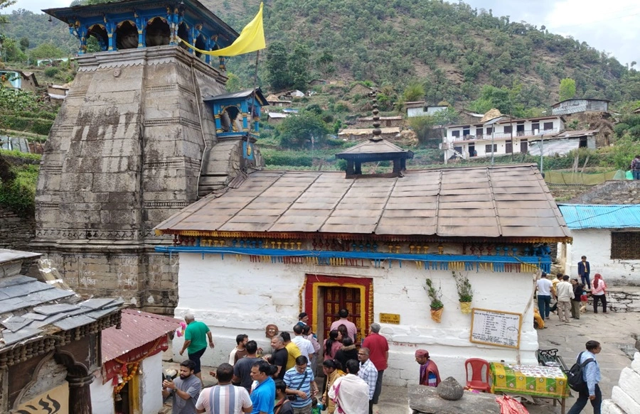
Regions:
<instances>
[{"instance_id":1,"label":"table draped in yellow and green cloth beside the red chair","mask_svg":"<svg viewBox=\"0 0 640 414\"><path fill-rule=\"evenodd\" d=\"M567 376L555 366L503 365L491 362L491 392L513 393L560 401L565 413L569 396Z\"/></svg>"}]
</instances>

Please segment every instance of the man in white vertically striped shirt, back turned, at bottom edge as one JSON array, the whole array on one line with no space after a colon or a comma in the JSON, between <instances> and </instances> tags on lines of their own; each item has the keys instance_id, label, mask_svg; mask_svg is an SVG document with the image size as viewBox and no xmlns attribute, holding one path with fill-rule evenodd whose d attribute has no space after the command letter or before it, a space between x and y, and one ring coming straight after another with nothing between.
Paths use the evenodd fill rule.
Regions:
<instances>
[{"instance_id":1,"label":"man in white vertically striped shirt, back turned, at bottom edge","mask_svg":"<svg viewBox=\"0 0 640 414\"><path fill-rule=\"evenodd\" d=\"M251 413L253 407L247 390L231 385L233 366L220 364L215 376L218 378L218 385L202 390L196 402L197 412L207 414Z\"/></svg>"}]
</instances>

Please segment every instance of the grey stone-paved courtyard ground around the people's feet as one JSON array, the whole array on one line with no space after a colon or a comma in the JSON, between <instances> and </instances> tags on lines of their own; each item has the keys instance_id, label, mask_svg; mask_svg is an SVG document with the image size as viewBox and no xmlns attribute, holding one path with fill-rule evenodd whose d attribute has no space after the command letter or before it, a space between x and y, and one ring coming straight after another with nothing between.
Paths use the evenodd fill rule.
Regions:
<instances>
[{"instance_id":1,"label":"grey stone-paved courtyard ground around the people's feet","mask_svg":"<svg viewBox=\"0 0 640 414\"><path fill-rule=\"evenodd\" d=\"M577 354L585 349L585 342L590 339L599 341L602 344L602 352L598 355L602 371L600 386L603 398L611 398L612 388L617 384L620 372L625 366L631 364L631 358L635 352L636 337L640 338L640 313L607 312L603 314L600 312L595 315L593 312L587 312L582 315L580 320L571 321L566 324L561 323L558 316L551 315L547 324L548 328L538 331L540 349L560 349L560 355L570 366L575 361ZM175 363L169 362L170 359L171 349L165 354L165 368L176 366ZM208 371L210 371L209 367L203 367L205 386L215 383L215 379L208 375ZM567 399L567 411L574 401L575 398ZM530 414L560 413L560 406L554 408L548 401L538 400L537 402L538 404L526 403ZM384 386L380 396L380 404L375 406L374 412L378 414L410 414L407 388ZM171 407L166 405L161 413L171 413ZM591 405L587 404L583 413L593 414Z\"/></svg>"}]
</instances>

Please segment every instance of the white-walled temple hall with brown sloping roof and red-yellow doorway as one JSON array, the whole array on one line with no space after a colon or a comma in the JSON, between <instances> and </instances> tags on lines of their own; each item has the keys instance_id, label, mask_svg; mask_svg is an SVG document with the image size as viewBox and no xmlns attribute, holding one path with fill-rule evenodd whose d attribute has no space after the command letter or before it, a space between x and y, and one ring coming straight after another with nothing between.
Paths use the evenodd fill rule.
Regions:
<instances>
[{"instance_id":1,"label":"white-walled temple hall with brown sloping roof and red-yellow doorway","mask_svg":"<svg viewBox=\"0 0 640 414\"><path fill-rule=\"evenodd\" d=\"M367 176L361 163L410 156L379 138L358 147L341 157L348 176L255 171L156 227L174 240L156 251L179 262L176 317L190 310L213 331L203 364L225 361L240 333L269 352L265 327L290 332L303 310L322 340L341 307L358 341L382 325L385 383L415 382L418 348L460 382L471 356L537 364L533 273L550 271L547 244L570 237L535 165ZM452 273L473 286L473 327ZM430 318L427 278L441 289L442 323Z\"/></svg>"}]
</instances>

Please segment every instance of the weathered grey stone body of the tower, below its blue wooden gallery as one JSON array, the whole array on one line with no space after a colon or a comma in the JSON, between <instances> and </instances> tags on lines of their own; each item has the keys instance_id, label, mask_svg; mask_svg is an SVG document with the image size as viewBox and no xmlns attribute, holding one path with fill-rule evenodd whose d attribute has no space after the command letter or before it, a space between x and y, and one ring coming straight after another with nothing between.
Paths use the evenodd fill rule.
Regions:
<instances>
[{"instance_id":1,"label":"weathered grey stone body of the tower, below its blue wooden gallery","mask_svg":"<svg viewBox=\"0 0 640 414\"><path fill-rule=\"evenodd\" d=\"M71 288L172 313L177 256L153 228L240 173L242 151L219 147L203 97L225 75L181 48L78 58L78 75L51 129L36 190L36 239ZM238 141L240 142L240 141Z\"/></svg>"}]
</instances>

